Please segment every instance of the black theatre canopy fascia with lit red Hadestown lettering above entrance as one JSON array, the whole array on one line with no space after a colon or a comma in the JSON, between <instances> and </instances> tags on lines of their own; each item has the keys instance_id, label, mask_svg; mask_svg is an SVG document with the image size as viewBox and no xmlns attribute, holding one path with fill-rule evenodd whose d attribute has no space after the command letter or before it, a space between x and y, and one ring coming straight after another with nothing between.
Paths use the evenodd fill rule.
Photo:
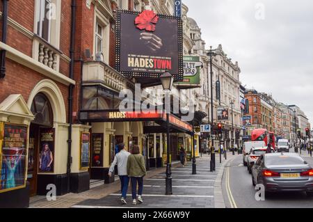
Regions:
<instances>
[{"instance_id":1,"label":"black theatre canopy fascia with lit red Hadestown lettering above entrance","mask_svg":"<svg viewBox=\"0 0 313 222\"><path fill-rule=\"evenodd\" d=\"M163 129L163 131L158 129L160 133L166 132L164 130L166 129L166 113L158 113L156 111L81 111L79 120L81 122L157 122ZM177 132L193 134L193 126L188 122L182 121L173 114L170 114L169 120L172 132L176 130Z\"/></svg>"}]
</instances>

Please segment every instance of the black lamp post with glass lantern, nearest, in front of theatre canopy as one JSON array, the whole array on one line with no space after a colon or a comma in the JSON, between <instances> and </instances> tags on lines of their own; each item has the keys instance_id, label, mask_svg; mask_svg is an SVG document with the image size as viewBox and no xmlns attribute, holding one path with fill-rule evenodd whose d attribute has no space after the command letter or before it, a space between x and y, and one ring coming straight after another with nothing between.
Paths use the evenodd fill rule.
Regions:
<instances>
[{"instance_id":1,"label":"black lamp post with glass lantern, nearest, in front of theatre canopy","mask_svg":"<svg viewBox=\"0 0 313 222\"><path fill-rule=\"evenodd\" d=\"M165 72L160 76L163 90L166 97L170 96L174 78L169 72ZM170 101L170 100L167 100ZM166 106L166 143L167 143L167 158L166 158L166 195L172 195L172 172L170 170L170 106Z\"/></svg>"}]
</instances>

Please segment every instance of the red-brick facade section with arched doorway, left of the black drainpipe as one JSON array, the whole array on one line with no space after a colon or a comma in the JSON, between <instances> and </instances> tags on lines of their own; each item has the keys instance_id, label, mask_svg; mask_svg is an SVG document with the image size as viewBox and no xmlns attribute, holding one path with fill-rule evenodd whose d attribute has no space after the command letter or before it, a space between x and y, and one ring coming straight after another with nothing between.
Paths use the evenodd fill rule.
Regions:
<instances>
[{"instance_id":1,"label":"red-brick facade section with arched doorway, left of the black drainpipe","mask_svg":"<svg viewBox=\"0 0 313 222\"><path fill-rule=\"evenodd\" d=\"M67 193L71 1L1 1L0 23L0 207L27 207Z\"/></svg>"}]
</instances>

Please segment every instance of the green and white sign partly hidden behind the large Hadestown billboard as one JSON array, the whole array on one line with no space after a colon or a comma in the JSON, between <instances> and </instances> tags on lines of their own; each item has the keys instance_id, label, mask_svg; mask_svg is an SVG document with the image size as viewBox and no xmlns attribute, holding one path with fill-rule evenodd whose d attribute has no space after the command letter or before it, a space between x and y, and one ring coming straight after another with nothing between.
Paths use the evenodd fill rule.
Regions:
<instances>
[{"instance_id":1,"label":"green and white sign partly hidden behind the large Hadestown billboard","mask_svg":"<svg viewBox=\"0 0 313 222\"><path fill-rule=\"evenodd\" d=\"M200 62L199 56L184 56L184 80L177 82L179 88L200 87Z\"/></svg>"}]
</instances>

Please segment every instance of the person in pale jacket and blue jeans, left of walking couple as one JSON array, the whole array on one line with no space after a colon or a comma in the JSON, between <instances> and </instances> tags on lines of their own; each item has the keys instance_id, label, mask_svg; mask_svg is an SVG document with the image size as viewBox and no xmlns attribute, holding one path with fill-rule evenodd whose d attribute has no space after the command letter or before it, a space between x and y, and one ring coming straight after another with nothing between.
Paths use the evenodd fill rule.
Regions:
<instances>
[{"instance_id":1,"label":"person in pale jacket and blue jeans, left of walking couple","mask_svg":"<svg viewBox=\"0 0 313 222\"><path fill-rule=\"evenodd\" d=\"M118 165L118 176L120 177L120 191L122 193L122 198L120 201L123 205L126 205L127 189L129 184L129 177L127 174L127 159L130 155L129 152L125 150L125 145L120 143L118 145L118 154L115 155L114 161L109 169L109 177L112 177L112 173L115 171L115 165Z\"/></svg>"}]
</instances>

